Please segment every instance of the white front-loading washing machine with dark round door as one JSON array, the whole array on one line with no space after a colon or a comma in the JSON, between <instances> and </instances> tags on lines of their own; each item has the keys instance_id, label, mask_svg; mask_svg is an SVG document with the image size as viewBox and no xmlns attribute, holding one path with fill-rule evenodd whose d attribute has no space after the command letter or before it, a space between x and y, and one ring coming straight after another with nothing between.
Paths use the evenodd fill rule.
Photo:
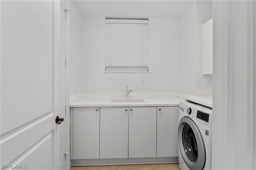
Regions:
<instances>
[{"instance_id":1,"label":"white front-loading washing machine with dark round door","mask_svg":"<svg viewBox=\"0 0 256 170\"><path fill-rule=\"evenodd\" d=\"M212 109L180 102L178 155L181 170L210 170L212 166Z\"/></svg>"}]
</instances>

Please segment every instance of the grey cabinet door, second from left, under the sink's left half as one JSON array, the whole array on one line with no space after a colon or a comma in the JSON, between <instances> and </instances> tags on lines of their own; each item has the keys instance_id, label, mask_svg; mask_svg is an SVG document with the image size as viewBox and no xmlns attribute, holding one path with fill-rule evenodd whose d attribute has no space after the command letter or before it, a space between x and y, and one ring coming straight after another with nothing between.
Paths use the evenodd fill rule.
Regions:
<instances>
[{"instance_id":1,"label":"grey cabinet door, second from left, under the sink's left half","mask_svg":"<svg viewBox=\"0 0 256 170\"><path fill-rule=\"evenodd\" d=\"M100 108L100 158L128 158L128 107Z\"/></svg>"}]
</instances>

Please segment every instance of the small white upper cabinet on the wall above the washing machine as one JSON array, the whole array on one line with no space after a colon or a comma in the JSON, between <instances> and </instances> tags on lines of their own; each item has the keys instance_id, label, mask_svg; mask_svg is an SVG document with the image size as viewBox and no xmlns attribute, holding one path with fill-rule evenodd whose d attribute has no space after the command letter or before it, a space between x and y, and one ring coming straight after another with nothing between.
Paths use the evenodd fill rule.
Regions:
<instances>
[{"instance_id":1,"label":"small white upper cabinet on the wall above the washing machine","mask_svg":"<svg viewBox=\"0 0 256 170\"><path fill-rule=\"evenodd\" d=\"M203 74L212 74L212 19L203 24Z\"/></svg>"}]
</instances>

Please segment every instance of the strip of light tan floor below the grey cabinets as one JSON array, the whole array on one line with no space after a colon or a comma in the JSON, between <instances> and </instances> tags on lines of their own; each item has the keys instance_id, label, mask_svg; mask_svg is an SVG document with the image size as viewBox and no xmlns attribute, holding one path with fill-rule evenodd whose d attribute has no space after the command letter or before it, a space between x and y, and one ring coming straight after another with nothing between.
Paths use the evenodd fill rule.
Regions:
<instances>
[{"instance_id":1,"label":"strip of light tan floor below the grey cabinets","mask_svg":"<svg viewBox=\"0 0 256 170\"><path fill-rule=\"evenodd\" d=\"M72 166L70 170L180 170L179 164Z\"/></svg>"}]
</instances>

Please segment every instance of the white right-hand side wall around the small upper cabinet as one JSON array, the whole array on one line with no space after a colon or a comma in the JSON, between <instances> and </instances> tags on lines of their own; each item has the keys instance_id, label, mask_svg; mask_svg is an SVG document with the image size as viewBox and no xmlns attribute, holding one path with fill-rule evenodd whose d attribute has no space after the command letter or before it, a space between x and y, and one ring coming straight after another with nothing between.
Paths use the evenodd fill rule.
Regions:
<instances>
[{"instance_id":1,"label":"white right-hand side wall around the small upper cabinet","mask_svg":"<svg viewBox=\"0 0 256 170\"><path fill-rule=\"evenodd\" d=\"M202 24L210 18L211 1L195 1L179 17L180 93L196 95L197 89L212 89L212 75L202 74Z\"/></svg>"}]
</instances>

